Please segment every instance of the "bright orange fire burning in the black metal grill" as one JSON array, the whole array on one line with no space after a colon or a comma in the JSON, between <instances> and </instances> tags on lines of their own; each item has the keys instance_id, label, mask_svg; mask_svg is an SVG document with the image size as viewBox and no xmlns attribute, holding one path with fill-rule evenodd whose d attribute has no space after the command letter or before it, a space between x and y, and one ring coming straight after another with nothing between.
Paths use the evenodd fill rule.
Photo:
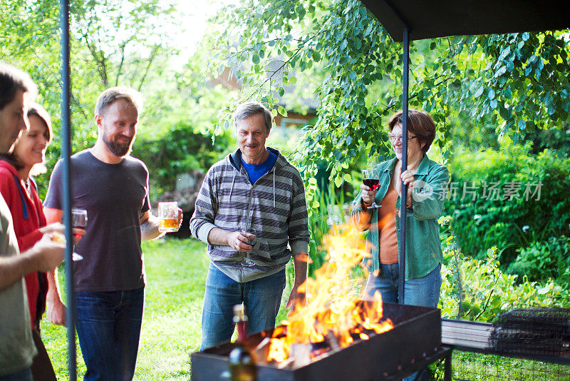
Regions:
<instances>
[{"instance_id":1,"label":"bright orange fire burning in the black metal grill","mask_svg":"<svg viewBox=\"0 0 570 381\"><path fill-rule=\"evenodd\" d=\"M270 339L268 361L284 362L296 357L291 353L295 344L327 342L327 350L331 350L393 328L389 319L382 320L380 293L372 301L361 300L363 282L351 276L363 258L369 257L361 233L349 224L334 230L336 233L323 239L328 248L327 262L315 271L315 278L307 278L299 288L299 293L306 293L306 304L294 306L289 321L276 328ZM320 354L311 352L310 357Z\"/></svg>"}]
</instances>

